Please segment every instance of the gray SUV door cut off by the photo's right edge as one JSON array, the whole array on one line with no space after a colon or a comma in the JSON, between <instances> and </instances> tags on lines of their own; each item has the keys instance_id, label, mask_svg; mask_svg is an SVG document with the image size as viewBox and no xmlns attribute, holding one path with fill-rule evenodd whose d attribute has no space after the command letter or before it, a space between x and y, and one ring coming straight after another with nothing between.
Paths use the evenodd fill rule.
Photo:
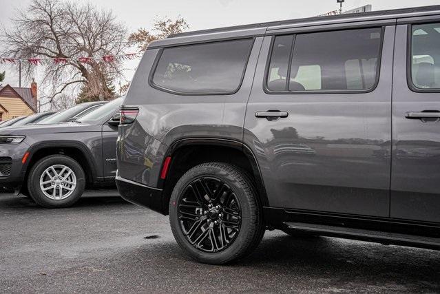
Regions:
<instances>
[{"instance_id":1,"label":"gray SUV door cut off by the photo's right edge","mask_svg":"<svg viewBox=\"0 0 440 294\"><path fill-rule=\"evenodd\" d=\"M399 22L390 216L440 222L440 17Z\"/></svg>"}]
</instances>

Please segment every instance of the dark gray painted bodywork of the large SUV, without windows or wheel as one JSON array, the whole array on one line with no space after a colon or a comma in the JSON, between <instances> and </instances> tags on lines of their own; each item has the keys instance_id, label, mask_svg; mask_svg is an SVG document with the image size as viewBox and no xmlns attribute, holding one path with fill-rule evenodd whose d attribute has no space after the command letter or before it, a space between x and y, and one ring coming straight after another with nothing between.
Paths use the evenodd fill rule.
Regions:
<instances>
[{"instance_id":1,"label":"dark gray painted bodywork of the large SUV, without windows or wheel","mask_svg":"<svg viewBox=\"0 0 440 294\"><path fill-rule=\"evenodd\" d=\"M238 30L233 35L212 32L155 42L140 61L123 103L126 107L138 107L139 114L132 125L120 126L118 176L157 187L167 149L174 142L182 138L229 139L250 147L258 159L271 207L439 222L439 162L430 164L421 160L415 163L413 160L408 165L395 153L399 145L413 148L408 145L408 140L412 141L410 144L426 148L430 154L438 152L436 147L432 147L439 143L438 124L437 127L434 124L426 127L423 123L405 120L402 113L421 111L426 107L432 109L434 106L438 109L439 94L423 94L426 98L419 101L415 98L419 94L410 92L406 85L406 60L403 56L406 36L403 36L404 32L399 32L403 29L398 27L395 44L396 27L390 25L396 23L399 17L423 13L353 17L344 21L352 21L357 27L376 26L378 20L387 25L379 84L373 92L363 94L270 95L263 91L270 39L276 30L283 33L289 30L331 30L339 28L338 20L266 28L264 40L262 30L258 28ZM429 14L438 15L439 12ZM257 34L255 44L242 87L236 94L178 96L156 90L147 83L161 47L252 34ZM399 66L396 66L397 63ZM392 101L395 103L393 107ZM416 103L419 106L408 109L411 103L412 108ZM424 108L421 107L423 103ZM289 116L275 122L255 118L255 112L271 109L289 112ZM286 138L289 138L286 127L295 128L297 137L288 142L273 140L271 129L286 132ZM393 135L392 127L395 128ZM341 141L348 143L341 144ZM429 145L432 143L434 145ZM277 153L285 144L294 151L287 156L279 156ZM391 151L394 152L392 156ZM408 169L412 171L406 173ZM430 174L424 174L423 169L428 169ZM421 182L415 180L421 178Z\"/></svg>"}]
</instances>

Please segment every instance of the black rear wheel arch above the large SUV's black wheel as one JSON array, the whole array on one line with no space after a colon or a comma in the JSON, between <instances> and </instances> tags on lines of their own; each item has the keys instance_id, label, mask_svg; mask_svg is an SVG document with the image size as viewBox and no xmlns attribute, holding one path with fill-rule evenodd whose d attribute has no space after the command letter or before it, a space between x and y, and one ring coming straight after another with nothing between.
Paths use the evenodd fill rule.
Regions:
<instances>
[{"instance_id":1,"label":"black rear wheel arch above the large SUV's black wheel","mask_svg":"<svg viewBox=\"0 0 440 294\"><path fill-rule=\"evenodd\" d=\"M168 213L171 193L183 174L206 162L229 163L242 169L255 185L261 206L269 205L260 167L249 147L236 140L222 138L187 138L171 144L164 159L171 157L167 177L159 178L158 188L163 189L163 212ZM165 160L164 160L165 161Z\"/></svg>"}]
</instances>

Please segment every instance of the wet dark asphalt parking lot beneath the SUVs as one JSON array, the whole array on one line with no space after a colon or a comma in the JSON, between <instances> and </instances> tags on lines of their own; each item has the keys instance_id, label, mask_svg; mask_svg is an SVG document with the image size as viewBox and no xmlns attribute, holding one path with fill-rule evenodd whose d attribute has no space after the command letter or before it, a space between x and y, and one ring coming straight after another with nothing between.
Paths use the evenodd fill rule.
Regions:
<instances>
[{"instance_id":1,"label":"wet dark asphalt parking lot beneath the SUVs","mask_svg":"<svg viewBox=\"0 0 440 294\"><path fill-rule=\"evenodd\" d=\"M440 251L266 232L230 266L182 254L168 218L116 191L41 209L0 194L1 293L440 292Z\"/></svg>"}]
</instances>

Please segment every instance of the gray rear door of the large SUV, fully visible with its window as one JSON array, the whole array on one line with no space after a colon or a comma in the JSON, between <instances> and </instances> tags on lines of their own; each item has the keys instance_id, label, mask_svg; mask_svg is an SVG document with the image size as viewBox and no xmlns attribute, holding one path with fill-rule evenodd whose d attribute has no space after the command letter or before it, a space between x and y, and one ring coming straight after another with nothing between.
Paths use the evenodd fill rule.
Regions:
<instances>
[{"instance_id":1,"label":"gray rear door of the large SUV, fully visible with its window","mask_svg":"<svg viewBox=\"0 0 440 294\"><path fill-rule=\"evenodd\" d=\"M389 216L395 26L358 25L264 39L244 141L271 207Z\"/></svg>"}]
</instances>

